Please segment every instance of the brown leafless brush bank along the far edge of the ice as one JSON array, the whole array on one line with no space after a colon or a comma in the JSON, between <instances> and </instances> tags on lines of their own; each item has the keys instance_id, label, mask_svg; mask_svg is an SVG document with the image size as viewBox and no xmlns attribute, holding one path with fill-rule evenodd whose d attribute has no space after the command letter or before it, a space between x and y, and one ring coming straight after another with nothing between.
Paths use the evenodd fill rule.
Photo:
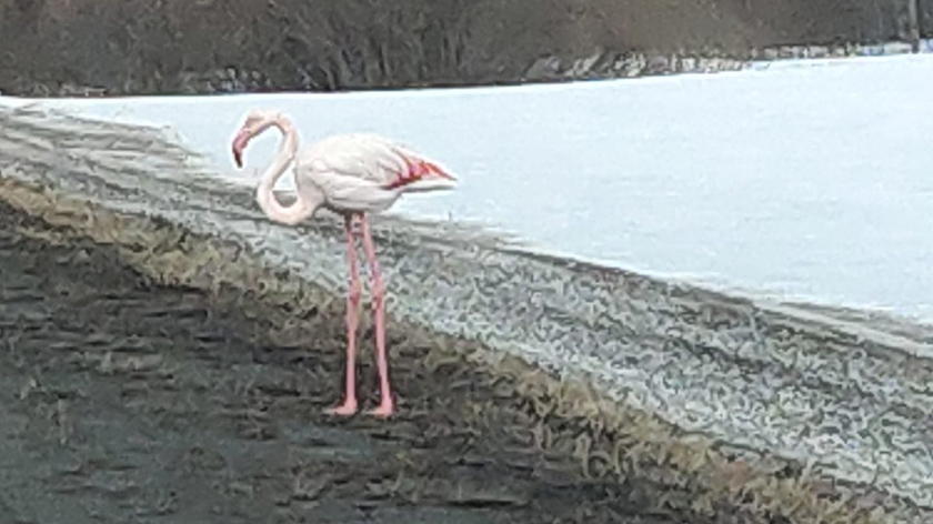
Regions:
<instances>
[{"instance_id":1,"label":"brown leafless brush bank along the far edge of the ice","mask_svg":"<svg viewBox=\"0 0 933 524\"><path fill-rule=\"evenodd\" d=\"M611 70L631 52L742 58L766 47L912 39L913 2L0 0L0 91L514 83L541 58L570 69L599 57L580 78ZM929 22L931 4L919 2L921 22Z\"/></svg>"}]
</instances>

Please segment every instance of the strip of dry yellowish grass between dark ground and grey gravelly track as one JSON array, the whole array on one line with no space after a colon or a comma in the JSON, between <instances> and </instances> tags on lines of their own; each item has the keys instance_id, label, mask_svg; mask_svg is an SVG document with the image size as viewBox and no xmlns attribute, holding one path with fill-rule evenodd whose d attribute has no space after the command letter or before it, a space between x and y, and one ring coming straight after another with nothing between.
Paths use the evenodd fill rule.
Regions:
<instances>
[{"instance_id":1,"label":"strip of dry yellowish grass between dark ground and grey gravelly track","mask_svg":"<svg viewBox=\"0 0 933 524\"><path fill-rule=\"evenodd\" d=\"M17 209L56 231L47 234L88 236L112 244L128 263L159 282L214 293L232 289L244 300L265 304L268 320L283 343L301 340L302 331L311 329L302 319L341 314L341 300L264 268L248 251L220 239L114 214L10 179L0 179L0 192ZM324 314L304 314L308 312ZM812 467L742 453L702 434L684 434L649 413L610 401L586 385L586 377L562 380L475 343L438 337L417 326L402 329L434 347L429 365L465 360L518 392L530 419L539 421L526 427L530 444L543 451L571 450L585 477L641 486L650 492L645 498L659 511L720 518L729 514L745 522L919 522L896 501L855 496L855 492L827 484ZM492 411L478 409L465 416L482 419Z\"/></svg>"}]
</instances>

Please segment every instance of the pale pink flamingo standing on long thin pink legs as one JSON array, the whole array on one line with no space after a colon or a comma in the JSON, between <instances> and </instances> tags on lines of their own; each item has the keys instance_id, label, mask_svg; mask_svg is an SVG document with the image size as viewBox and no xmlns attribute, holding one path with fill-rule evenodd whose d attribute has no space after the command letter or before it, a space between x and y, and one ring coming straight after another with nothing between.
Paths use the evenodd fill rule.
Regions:
<instances>
[{"instance_id":1,"label":"pale pink flamingo standing on long thin pink legs","mask_svg":"<svg viewBox=\"0 0 933 524\"><path fill-rule=\"evenodd\" d=\"M357 413L357 328L360 303L360 276L357 262L358 223L370 264L371 295L375 316L375 352L379 370L380 404L368 413L387 417L394 411L389 385L389 360L385 354L384 286L379 272L367 213L389 209L403 193L447 190L455 187L451 174L393 141L377 134L344 134L321 140L298 151L298 131L277 111L251 111L233 139L233 159L242 168L242 154L249 141L271 127L284 139L279 154L265 170L257 190L257 201L277 222L294 225L328 209L344 218L347 259L350 264L350 292L347 300L347 387L343 403L328 413L349 416ZM290 205L279 202L273 190L285 169L294 162L298 199Z\"/></svg>"}]
</instances>

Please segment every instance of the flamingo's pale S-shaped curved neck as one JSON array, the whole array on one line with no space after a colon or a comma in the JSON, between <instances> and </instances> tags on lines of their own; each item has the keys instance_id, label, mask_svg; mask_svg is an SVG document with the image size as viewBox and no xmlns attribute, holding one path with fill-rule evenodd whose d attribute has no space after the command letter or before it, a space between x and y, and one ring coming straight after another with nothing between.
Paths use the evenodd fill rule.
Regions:
<instances>
[{"instance_id":1,"label":"flamingo's pale S-shaped curved neck","mask_svg":"<svg viewBox=\"0 0 933 524\"><path fill-rule=\"evenodd\" d=\"M279 154L275 155L275 160L273 160L272 164L265 169L264 173L262 173L262 180L260 181L255 193L257 201L259 202L259 206L262 208L262 211L264 211L270 219L277 222L294 224L311 215L317 205L310 202L304 202L300 193L298 194L298 200L294 203L291 205L282 205L282 203L275 198L273 189L275 187L275 182L278 182L282 174L284 174L298 152L298 131L295 131L294 125L292 125L288 119L281 115L270 120L265 124L265 128L268 127L279 128L279 131L282 132L283 139L279 144Z\"/></svg>"}]
</instances>

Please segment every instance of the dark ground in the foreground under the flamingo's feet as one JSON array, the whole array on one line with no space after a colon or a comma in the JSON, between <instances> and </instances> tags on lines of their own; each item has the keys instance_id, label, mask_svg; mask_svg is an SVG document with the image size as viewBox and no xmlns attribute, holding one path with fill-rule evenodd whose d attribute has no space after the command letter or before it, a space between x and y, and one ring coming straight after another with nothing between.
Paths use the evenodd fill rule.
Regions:
<instances>
[{"instance_id":1,"label":"dark ground in the foreground under the flamingo's feet","mask_svg":"<svg viewBox=\"0 0 933 524\"><path fill-rule=\"evenodd\" d=\"M398 335L399 415L332 420L342 318L281 346L247 306L41 229L0 206L0 523L701 522L582 480L509 384Z\"/></svg>"}]
</instances>

